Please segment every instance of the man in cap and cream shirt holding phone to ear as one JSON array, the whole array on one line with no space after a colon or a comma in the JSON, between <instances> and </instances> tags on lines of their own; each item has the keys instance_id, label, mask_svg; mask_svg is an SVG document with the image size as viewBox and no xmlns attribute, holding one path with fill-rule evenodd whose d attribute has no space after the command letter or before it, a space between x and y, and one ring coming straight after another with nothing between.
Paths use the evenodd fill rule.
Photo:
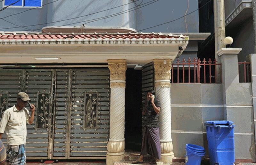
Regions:
<instances>
[{"instance_id":1,"label":"man in cap and cream shirt holding phone to ear","mask_svg":"<svg viewBox=\"0 0 256 165\"><path fill-rule=\"evenodd\" d=\"M30 105L31 116L28 109L25 108L28 101L30 99L27 93L18 93L17 103L4 111L0 122L0 139L5 131L7 136L7 161L11 165L23 165L26 163L26 123L32 124L35 114L35 106L33 104Z\"/></svg>"}]
</instances>

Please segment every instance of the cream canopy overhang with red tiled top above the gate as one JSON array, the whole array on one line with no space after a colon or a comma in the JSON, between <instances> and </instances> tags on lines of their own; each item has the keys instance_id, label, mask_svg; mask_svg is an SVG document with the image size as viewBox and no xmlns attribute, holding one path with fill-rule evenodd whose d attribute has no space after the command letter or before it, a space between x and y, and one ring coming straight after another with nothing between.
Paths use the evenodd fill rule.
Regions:
<instances>
[{"instance_id":1,"label":"cream canopy overhang with red tiled top above the gate","mask_svg":"<svg viewBox=\"0 0 256 165\"><path fill-rule=\"evenodd\" d=\"M186 36L161 33L55 34L56 38L53 34L30 38L1 35L1 64L107 63L108 59L126 59L128 64L144 65L156 58L175 59L188 45Z\"/></svg>"}]
</instances>

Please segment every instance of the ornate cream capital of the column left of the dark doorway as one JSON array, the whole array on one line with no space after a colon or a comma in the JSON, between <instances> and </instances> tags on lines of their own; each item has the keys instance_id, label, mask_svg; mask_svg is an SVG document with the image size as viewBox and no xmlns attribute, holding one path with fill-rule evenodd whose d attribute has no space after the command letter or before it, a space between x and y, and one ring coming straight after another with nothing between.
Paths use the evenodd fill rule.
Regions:
<instances>
[{"instance_id":1,"label":"ornate cream capital of the column left of the dark doorway","mask_svg":"<svg viewBox=\"0 0 256 165\"><path fill-rule=\"evenodd\" d=\"M126 60L108 59L108 68L110 70L110 88L125 88Z\"/></svg>"}]
</instances>

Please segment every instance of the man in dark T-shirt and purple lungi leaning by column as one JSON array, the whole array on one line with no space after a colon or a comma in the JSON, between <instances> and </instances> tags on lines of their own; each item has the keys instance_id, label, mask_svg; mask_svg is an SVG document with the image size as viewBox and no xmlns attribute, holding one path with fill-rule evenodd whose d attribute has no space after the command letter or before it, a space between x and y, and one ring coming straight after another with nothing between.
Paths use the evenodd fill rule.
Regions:
<instances>
[{"instance_id":1,"label":"man in dark T-shirt and purple lungi leaning by column","mask_svg":"<svg viewBox=\"0 0 256 165\"><path fill-rule=\"evenodd\" d=\"M140 157L133 164L143 163L143 155L150 154L153 161L149 164L156 164L156 159L161 159L161 145L159 137L159 121L158 114L161 109L161 104L155 99L153 90L147 93L146 110L142 112L143 120L143 140L141 146Z\"/></svg>"}]
</instances>

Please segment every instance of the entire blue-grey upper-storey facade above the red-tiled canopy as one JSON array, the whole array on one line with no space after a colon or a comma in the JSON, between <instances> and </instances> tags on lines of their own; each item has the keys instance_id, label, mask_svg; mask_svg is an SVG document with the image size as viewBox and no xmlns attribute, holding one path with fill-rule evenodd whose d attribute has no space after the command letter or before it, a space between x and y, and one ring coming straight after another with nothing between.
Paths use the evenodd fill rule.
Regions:
<instances>
[{"instance_id":1,"label":"entire blue-grey upper-storey facade above the red-tiled canopy","mask_svg":"<svg viewBox=\"0 0 256 165\"><path fill-rule=\"evenodd\" d=\"M43 0L43 4L53 2L55 0ZM142 4L150 2L152 0L140 0L136 2L137 4ZM65 1L56 1L52 4L47 4L42 8L33 9L26 11L24 13L11 16L6 18L6 20L15 23L20 26L24 25L34 25L34 24L44 24L28 27L29 29L41 29L44 26L62 26L71 24L69 26L81 26L83 23L86 23L86 20L91 20L94 18L100 18L109 16L125 10L133 10L131 8L135 7L135 4L124 5L115 9L108 11L100 12L86 17L76 18L91 14L94 12L107 10L112 7L120 6L123 4L131 3L131 0L65 0ZM149 4L149 3L148 3ZM0 9L3 6L3 2L0 2ZM190 1L188 13L198 9L198 0ZM4 11L0 12L0 18L5 16L28 10L28 8L11 8L8 7ZM184 16L185 11L187 10L187 0L180 1L170 1L170 0L161 0L156 1L153 4L142 7L135 11L127 12L122 15L115 17L102 19L99 21L91 22L85 24L87 26L123 26L131 27L137 30L148 28L157 24L161 24L179 17ZM56 23L49 23L54 21L59 21L67 18L76 18L67 21L61 21ZM80 23L75 23L80 22ZM198 11L187 16L187 25L188 32L199 32L199 20L198 20ZM7 27L16 27L10 23L6 23L4 20L0 19L0 28ZM29 31L24 28L14 28L14 29L2 29L0 31ZM40 31L40 30L39 30ZM143 32L186 32L186 26L184 23L184 18L181 18L175 22L157 26Z\"/></svg>"}]
</instances>

